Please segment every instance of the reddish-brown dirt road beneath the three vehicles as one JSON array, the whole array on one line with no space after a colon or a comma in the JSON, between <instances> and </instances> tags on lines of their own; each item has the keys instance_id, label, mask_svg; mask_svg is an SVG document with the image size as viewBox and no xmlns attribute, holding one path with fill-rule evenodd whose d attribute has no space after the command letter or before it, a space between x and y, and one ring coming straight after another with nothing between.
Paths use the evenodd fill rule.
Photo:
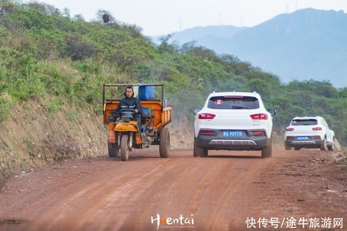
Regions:
<instances>
[{"instance_id":1,"label":"reddish-brown dirt road beneath the three vehicles","mask_svg":"<svg viewBox=\"0 0 347 231\"><path fill-rule=\"evenodd\" d=\"M0 190L0 230L156 230L157 214L159 229L243 230L247 217L278 218L282 229L291 217L319 218L320 227L343 218L338 230L347 228L346 165L319 150L267 159L252 151L193 158L192 150L160 159L144 150L128 162L102 156L35 169ZM162 220L181 214L184 225Z\"/></svg>"}]
</instances>

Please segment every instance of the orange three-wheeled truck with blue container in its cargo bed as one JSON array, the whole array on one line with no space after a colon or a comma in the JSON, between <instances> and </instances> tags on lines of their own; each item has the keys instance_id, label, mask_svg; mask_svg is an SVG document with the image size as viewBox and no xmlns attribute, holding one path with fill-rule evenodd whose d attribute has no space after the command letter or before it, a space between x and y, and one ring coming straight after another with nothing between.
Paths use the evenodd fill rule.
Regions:
<instances>
[{"instance_id":1,"label":"orange three-wheeled truck with blue container in its cargo bed","mask_svg":"<svg viewBox=\"0 0 347 231\"><path fill-rule=\"evenodd\" d=\"M134 110L122 109L121 118L116 121L116 108L119 99L105 98L107 88L113 87L124 92L126 86L138 86L140 88L153 88L153 95L139 97L142 112L138 121L134 118ZM154 87L161 87L161 99L154 99ZM136 96L136 95L135 95ZM103 85L103 114L104 124L108 126L108 154L109 157L117 157L120 149L122 161L129 159L129 151L134 148L144 148L159 144L159 154L162 158L169 156L170 134L165 127L172 118L172 107L168 100L164 100L163 84L104 84ZM140 121L140 122L139 122Z\"/></svg>"}]
</instances>

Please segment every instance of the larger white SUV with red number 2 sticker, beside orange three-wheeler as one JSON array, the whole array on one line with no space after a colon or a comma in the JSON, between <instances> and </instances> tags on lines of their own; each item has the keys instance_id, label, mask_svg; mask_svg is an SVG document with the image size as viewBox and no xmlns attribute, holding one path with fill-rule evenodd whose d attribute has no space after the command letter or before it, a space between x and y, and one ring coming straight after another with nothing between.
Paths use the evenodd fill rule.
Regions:
<instances>
[{"instance_id":1,"label":"larger white SUV with red number 2 sticker, beside orange three-wheeler","mask_svg":"<svg viewBox=\"0 0 347 231\"><path fill-rule=\"evenodd\" d=\"M194 110L194 157L208 150L261 150L271 156L272 115L256 92L213 92Z\"/></svg>"}]
</instances>

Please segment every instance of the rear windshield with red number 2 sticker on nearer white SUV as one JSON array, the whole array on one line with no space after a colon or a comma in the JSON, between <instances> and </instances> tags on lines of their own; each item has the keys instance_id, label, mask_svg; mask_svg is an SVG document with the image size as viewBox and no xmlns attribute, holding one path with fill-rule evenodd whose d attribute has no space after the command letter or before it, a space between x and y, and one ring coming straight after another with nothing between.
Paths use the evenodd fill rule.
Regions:
<instances>
[{"instance_id":1,"label":"rear windshield with red number 2 sticker on nearer white SUV","mask_svg":"<svg viewBox=\"0 0 347 231\"><path fill-rule=\"evenodd\" d=\"M259 100L252 96L214 96L208 100L207 107L211 109L257 109L259 108Z\"/></svg>"}]
</instances>

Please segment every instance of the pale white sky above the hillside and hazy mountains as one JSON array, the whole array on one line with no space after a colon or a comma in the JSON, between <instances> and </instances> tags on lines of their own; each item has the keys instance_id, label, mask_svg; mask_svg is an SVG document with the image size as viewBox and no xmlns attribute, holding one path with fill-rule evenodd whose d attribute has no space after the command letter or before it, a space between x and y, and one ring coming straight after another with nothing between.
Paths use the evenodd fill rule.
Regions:
<instances>
[{"instance_id":1,"label":"pale white sky above the hillside and hazy mountains","mask_svg":"<svg viewBox=\"0 0 347 231\"><path fill-rule=\"evenodd\" d=\"M23 1L24 3L30 1ZM253 27L272 17L295 10L343 10L347 0L44 0L70 15L82 14L89 21L98 9L116 20L136 24L147 36L163 35L206 25Z\"/></svg>"}]
</instances>

